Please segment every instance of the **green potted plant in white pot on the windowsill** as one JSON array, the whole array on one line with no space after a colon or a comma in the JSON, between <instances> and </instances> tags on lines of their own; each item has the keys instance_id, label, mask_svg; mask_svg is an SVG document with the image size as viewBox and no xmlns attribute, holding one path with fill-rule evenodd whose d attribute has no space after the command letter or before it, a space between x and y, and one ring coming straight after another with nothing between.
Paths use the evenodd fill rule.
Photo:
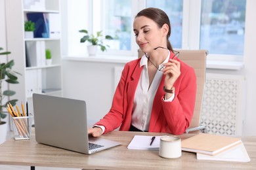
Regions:
<instances>
[{"instance_id":1,"label":"green potted plant in white pot on the windowsill","mask_svg":"<svg viewBox=\"0 0 256 170\"><path fill-rule=\"evenodd\" d=\"M88 52L89 55L95 55L96 54L96 49L97 46L100 46L100 50L102 50L102 52L104 52L106 50L106 44L103 44L103 35L102 35L102 31L97 31L96 35L89 35L88 31L86 29L81 29L79 30L80 33L85 33L85 36L83 36L83 38L80 39L80 42L91 42L91 46L87 46L88 47ZM106 35L104 37L104 39L113 39L110 35ZM109 46L108 46L109 47Z\"/></svg>"}]
</instances>

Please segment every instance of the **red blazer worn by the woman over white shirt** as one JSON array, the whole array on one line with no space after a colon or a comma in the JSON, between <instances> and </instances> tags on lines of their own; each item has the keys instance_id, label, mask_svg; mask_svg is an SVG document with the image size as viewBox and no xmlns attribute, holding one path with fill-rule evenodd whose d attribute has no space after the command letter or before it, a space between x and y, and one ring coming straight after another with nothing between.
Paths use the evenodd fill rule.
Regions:
<instances>
[{"instance_id":1,"label":"red blazer worn by the woman over white shirt","mask_svg":"<svg viewBox=\"0 0 256 170\"><path fill-rule=\"evenodd\" d=\"M170 58L173 56L171 52ZM165 75L162 76L156 92L148 131L165 132L179 135L186 131L192 120L196 101L196 74L194 69L181 62L181 75L176 80L175 98L172 102L163 101ZM139 82L142 67L140 59L125 64L121 79L117 85L110 111L96 125L106 127L104 133L119 127L121 131L129 131L133 110L133 99Z\"/></svg>"}]
</instances>

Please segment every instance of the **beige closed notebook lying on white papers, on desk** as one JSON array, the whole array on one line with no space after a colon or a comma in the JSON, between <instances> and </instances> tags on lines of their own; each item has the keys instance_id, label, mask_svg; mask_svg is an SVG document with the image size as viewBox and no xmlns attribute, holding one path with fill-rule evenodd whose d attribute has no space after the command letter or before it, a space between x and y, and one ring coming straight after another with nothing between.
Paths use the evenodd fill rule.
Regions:
<instances>
[{"instance_id":1,"label":"beige closed notebook lying on white papers, on desk","mask_svg":"<svg viewBox=\"0 0 256 170\"><path fill-rule=\"evenodd\" d=\"M181 148L188 152L215 155L239 143L241 139L238 137L200 133L181 141Z\"/></svg>"}]
</instances>

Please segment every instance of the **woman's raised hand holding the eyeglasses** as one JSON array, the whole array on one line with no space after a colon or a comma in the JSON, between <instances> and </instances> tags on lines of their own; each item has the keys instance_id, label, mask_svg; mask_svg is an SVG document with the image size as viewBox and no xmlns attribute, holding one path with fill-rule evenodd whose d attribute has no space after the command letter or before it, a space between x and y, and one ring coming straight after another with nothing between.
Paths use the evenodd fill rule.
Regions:
<instances>
[{"instance_id":1,"label":"woman's raised hand holding the eyeglasses","mask_svg":"<svg viewBox=\"0 0 256 170\"><path fill-rule=\"evenodd\" d=\"M181 63L175 59L169 59L164 63L163 75L165 75L165 88L171 89L177 78L181 75Z\"/></svg>"}]
</instances>

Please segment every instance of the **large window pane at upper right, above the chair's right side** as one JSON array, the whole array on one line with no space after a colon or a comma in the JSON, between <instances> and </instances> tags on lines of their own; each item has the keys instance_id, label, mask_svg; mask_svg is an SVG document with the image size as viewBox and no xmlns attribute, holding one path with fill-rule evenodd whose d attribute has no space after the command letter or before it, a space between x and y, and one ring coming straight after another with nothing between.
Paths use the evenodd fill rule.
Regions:
<instances>
[{"instance_id":1,"label":"large window pane at upper right, above the chair's right side","mask_svg":"<svg viewBox=\"0 0 256 170\"><path fill-rule=\"evenodd\" d=\"M245 0L202 0L200 48L210 54L244 54Z\"/></svg>"}]
</instances>

